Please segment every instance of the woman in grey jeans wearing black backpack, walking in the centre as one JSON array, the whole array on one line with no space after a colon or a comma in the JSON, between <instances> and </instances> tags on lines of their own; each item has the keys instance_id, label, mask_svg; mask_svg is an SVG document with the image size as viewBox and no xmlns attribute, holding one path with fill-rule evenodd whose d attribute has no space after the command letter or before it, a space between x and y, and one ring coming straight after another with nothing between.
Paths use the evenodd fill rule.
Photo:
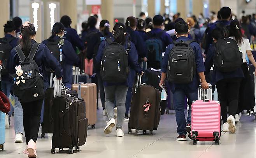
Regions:
<instances>
[{"instance_id":1,"label":"woman in grey jeans wearing black backpack, walking in the centre","mask_svg":"<svg viewBox=\"0 0 256 158\"><path fill-rule=\"evenodd\" d=\"M138 63L135 45L126 40L126 27L116 23L113 28L114 38L104 40L98 49L96 61L102 63L101 75L105 90L105 106L109 122L104 128L105 134L110 134L116 125L114 108L117 105L116 136L123 137L122 130L125 115L125 99L129 86L132 86L130 69L143 75Z\"/></svg>"}]
</instances>

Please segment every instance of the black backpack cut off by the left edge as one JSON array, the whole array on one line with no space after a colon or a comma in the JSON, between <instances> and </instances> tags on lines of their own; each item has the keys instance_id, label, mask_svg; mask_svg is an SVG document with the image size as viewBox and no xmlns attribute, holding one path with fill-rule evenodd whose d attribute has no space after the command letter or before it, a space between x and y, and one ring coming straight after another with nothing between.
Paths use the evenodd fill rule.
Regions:
<instances>
[{"instance_id":1,"label":"black backpack cut off by the left edge","mask_svg":"<svg viewBox=\"0 0 256 158\"><path fill-rule=\"evenodd\" d=\"M7 60L10 57L12 46L10 45L10 42L14 40L15 37L11 37L7 40L7 38L0 38L0 60L2 61L2 75L8 75L7 70Z\"/></svg>"}]
</instances>

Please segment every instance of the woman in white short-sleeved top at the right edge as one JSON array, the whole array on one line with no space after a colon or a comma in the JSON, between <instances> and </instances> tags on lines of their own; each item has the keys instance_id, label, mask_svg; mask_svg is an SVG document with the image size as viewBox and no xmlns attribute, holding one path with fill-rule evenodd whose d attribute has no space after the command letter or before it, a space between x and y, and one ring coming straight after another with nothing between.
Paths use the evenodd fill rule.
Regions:
<instances>
[{"instance_id":1,"label":"woman in white short-sleeved top at the right edge","mask_svg":"<svg viewBox=\"0 0 256 158\"><path fill-rule=\"evenodd\" d=\"M245 78L241 81L241 85L240 85L240 89L239 89L238 110L237 110L237 115L235 117L236 122L239 122L241 115L238 115L238 114L241 113L242 110L247 109L247 114L250 115L249 110L251 109L251 107L249 106L249 103L245 104L246 100L249 99L248 98L249 96L247 96L247 95L245 98L245 94L247 94L248 91L250 91L250 90L246 89L245 85L248 81L250 81L250 78L251 78L249 71L248 71L246 56L249 58L249 61L251 61L254 68L256 68L256 62L254 60L254 57L252 56L251 45L250 45L249 39L245 38L242 35L242 29L241 29L240 23L237 20L231 21L231 23L230 23L230 38L237 41L237 45L240 49L240 52L242 52L242 54L243 54L243 62L244 62L241 67L244 72ZM256 72L256 70L255 70L255 72Z\"/></svg>"}]
</instances>

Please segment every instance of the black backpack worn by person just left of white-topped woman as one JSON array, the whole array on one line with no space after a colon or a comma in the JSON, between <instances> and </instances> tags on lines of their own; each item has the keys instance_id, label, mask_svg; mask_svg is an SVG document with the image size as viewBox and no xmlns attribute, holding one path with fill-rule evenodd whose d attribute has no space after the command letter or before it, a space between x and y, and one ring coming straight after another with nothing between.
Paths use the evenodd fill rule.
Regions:
<instances>
[{"instance_id":1,"label":"black backpack worn by person just left of white-topped woman","mask_svg":"<svg viewBox=\"0 0 256 158\"><path fill-rule=\"evenodd\" d=\"M216 43L214 66L223 73L235 71L243 63L242 52L239 51L237 42L231 38L221 38Z\"/></svg>"}]
</instances>

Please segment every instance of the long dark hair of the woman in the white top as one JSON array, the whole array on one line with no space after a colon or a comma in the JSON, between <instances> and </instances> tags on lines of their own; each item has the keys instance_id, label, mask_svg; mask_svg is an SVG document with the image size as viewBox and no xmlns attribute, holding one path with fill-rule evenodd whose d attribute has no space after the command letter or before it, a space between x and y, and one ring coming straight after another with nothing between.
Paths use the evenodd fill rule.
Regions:
<instances>
[{"instance_id":1,"label":"long dark hair of the woman in the white top","mask_svg":"<svg viewBox=\"0 0 256 158\"><path fill-rule=\"evenodd\" d=\"M239 21L233 20L230 23L230 36L234 36L235 40L237 41L238 45L241 45L243 42L243 35L241 31L241 26Z\"/></svg>"}]
</instances>

